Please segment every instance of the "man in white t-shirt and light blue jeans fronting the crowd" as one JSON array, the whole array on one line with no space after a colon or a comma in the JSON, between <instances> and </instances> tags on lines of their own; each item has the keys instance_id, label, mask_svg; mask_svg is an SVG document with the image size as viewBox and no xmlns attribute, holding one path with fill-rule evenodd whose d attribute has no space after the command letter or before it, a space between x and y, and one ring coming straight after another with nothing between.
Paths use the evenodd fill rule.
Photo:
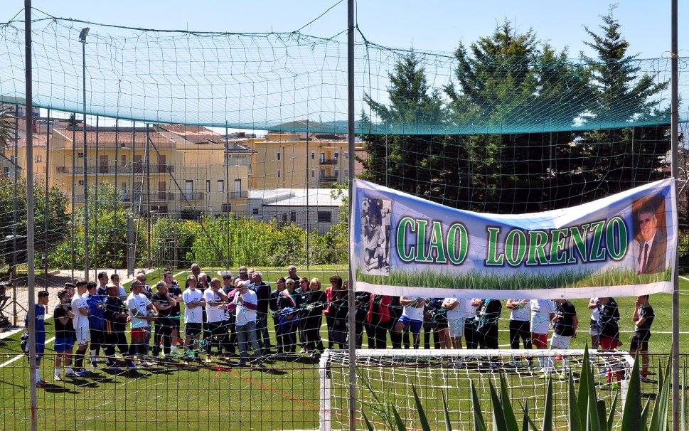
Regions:
<instances>
[{"instance_id":1,"label":"man in white t-shirt and light blue jeans fronting the crowd","mask_svg":"<svg viewBox=\"0 0 689 431\"><path fill-rule=\"evenodd\" d=\"M244 365L247 361L248 344L254 351L253 363L261 363L261 347L256 338L256 309L258 297L256 292L247 287L247 282L237 282L237 292L233 299L235 309L235 327L237 329L237 344L239 344L240 361L237 365Z\"/></svg>"}]
</instances>

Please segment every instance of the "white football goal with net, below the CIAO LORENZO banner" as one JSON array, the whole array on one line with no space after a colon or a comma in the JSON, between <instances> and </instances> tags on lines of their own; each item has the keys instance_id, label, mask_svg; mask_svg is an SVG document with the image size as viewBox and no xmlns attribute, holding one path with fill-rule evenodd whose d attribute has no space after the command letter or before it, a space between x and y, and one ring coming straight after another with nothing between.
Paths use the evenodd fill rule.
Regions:
<instances>
[{"instance_id":1,"label":"white football goal with net, below the CIAO LORENZO banner","mask_svg":"<svg viewBox=\"0 0 689 431\"><path fill-rule=\"evenodd\" d=\"M634 359L624 351L589 351L599 398L611 405L619 385L624 402ZM412 385L416 388L432 429L444 428L443 395L455 429L471 428L474 408L470 382L479 395L481 411L491 417L489 383L498 388L503 373L516 414L528 406L530 417L543 420L548 378L552 378L553 422L567 426L567 372L578 381L584 351L577 350L389 350L356 351L356 428L365 429L364 415L376 429L391 428L395 406L408 429L420 429ZM320 429L348 429L349 356L326 351L320 362ZM542 373L540 368L551 373ZM564 372L563 372L564 371ZM616 374L621 376L616 382ZM612 378L609 379L608 376ZM621 405L618 403L618 409ZM486 419L488 421L488 419ZM619 423L614 425L619 429Z\"/></svg>"}]
</instances>

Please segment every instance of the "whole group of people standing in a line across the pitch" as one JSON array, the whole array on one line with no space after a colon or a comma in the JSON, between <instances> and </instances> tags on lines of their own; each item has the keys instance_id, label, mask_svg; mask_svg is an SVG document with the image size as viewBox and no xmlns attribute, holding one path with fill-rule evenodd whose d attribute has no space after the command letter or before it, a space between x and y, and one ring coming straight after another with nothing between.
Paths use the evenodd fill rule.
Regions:
<instances>
[{"instance_id":1,"label":"whole group of people standing in a line across the pitch","mask_svg":"<svg viewBox=\"0 0 689 431\"><path fill-rule=\"evenodd\" d=\"M211 362L215 357L229 360L238 356L237 365L259 365L266 355L291 356L301 353L319 356L324 351L321 325L325 316L327 346L345 348L348 341L348 280L338 275L329 279L324 289L318 278L297 275L290 265L287 275L279 277L275 288L252 268L240 267L237 277L229 271L210 277L199 265L191 266L191 275L182 288L169 270L153 286L140 272L128 293L119 276L105 272L97 282L66 283L58 292L55 319L55 380L82 376L90 351L90 365L97 367L100 351L105 366L121 364L119 351L128 368L148 366L151 361L181 359ZM155 292L154 292L155 289ZM355 294L354 329L357 348L367 334L368 348L497 349L498 324L503 304L498 299L458 299L392 297L368 292ZM48 292L39 292L36 304L36 351L38 358L45 347L43 319ZM183 304L183 308L181 307ZM592 298L589 334L594 348L614 350L620 343L619 309L613 298ZM579 319L575 306L566 299L508 299L511 348L566 349L577 336ZM272 316L274 344L268 329ZM635 324L630 351L642 356L642 378L648 374L648 339L651 336L653 308L648 296L638 297L632 319ZM129 325L129 341L127 340ZM153 344L151 346L151 339ZM76 345L76 351L74 346ZM152 348L152 352L151 352ZM273 351L272 348L276 348ZM237 355L237 350L239 354ZM249 353L252 358L249 358ZM72 364L74 368L72 368ZM539 360L540 371L554 371L552 361ZM608 379L621 378L615 371ZM38 377L40 382L40 376Z\"/></svg>"}]
</instances>

